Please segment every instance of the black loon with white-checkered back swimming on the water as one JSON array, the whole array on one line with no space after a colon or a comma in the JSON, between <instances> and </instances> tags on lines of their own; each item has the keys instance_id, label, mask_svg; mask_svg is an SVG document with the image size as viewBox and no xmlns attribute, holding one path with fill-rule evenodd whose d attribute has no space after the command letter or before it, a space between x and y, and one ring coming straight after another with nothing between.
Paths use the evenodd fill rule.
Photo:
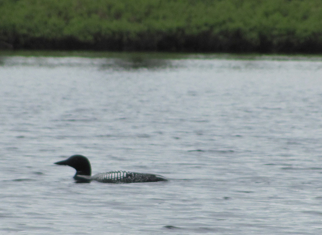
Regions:
<instances>
[{"instance_id":1,"label":"black loon with white-checkered back swimming on the water","mask_svg":"<svg viewBox=\"0 0 322 235\"><path fill-rule=\"evenodd\" d=\"M90 183L95 180L101 183L143 183L168 181L160 175L136 173L129 171L109 171L92 175L91 163L83 155L73 155L66 160L55 162L57 165L67 165L76 170L74 179L76 183Z\"/></svg>"}]
</instances>

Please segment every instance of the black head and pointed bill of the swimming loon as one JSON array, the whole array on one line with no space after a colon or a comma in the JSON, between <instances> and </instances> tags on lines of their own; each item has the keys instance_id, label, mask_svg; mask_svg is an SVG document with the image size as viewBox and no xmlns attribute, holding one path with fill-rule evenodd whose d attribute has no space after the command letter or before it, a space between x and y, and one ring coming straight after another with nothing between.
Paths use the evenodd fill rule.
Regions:
<instances>
[{"instance_id":1,"label":"black head and pointed bill of the swimming loon","mask_svg":"<svg viewBox=\"0 0 322 235\"><path fill-rule=\"evenodd\" d=\"M67 165L75 168L76 175L92 175L91 163L83 155L73 155L66 160L55 162L57 165Z\"/></svg>"}]
</instances>

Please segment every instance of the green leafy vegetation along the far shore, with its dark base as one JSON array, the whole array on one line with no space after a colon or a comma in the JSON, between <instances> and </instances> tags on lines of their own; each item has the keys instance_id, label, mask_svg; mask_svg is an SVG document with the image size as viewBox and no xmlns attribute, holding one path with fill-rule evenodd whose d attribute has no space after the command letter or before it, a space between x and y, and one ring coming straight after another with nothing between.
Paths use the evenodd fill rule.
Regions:
<instances>
[{"instance_id":1,"label":"green leafy vegetation along the far shore, with its dark base","mask_svg":"<svg viewBox=\"0 0 322 235\"><path fill-rule=\"evenodd\" d=\"M0 0L0 48L322 52L319 0Z\"/></svg>"}]
</instances>

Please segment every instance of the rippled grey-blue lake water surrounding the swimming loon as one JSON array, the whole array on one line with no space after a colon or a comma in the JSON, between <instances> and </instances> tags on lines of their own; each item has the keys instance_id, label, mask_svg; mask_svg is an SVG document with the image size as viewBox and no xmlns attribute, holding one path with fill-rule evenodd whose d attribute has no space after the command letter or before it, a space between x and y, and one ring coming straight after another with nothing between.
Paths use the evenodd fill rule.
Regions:
<instances>
[{"instance_id":1,"label":"rippled grey-blue lake water surrounding the swimming loon","mask_svg":"<svg viewBox=\"0 0 322 235\"><path fill-rule=\"evenodd\" d=\"M1 234L322 233L320 58L2 56L0 103Z\"/></svg>"}]
</instances>

